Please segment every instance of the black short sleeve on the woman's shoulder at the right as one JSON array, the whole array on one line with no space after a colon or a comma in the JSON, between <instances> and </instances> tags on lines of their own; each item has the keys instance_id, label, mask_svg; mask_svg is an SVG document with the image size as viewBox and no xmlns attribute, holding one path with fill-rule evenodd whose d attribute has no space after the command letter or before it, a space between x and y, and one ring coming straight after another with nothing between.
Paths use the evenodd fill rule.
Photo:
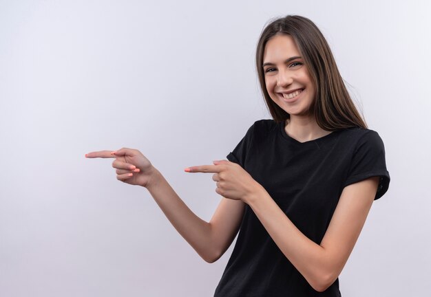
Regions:
<instances>
[{"instance_id":1,"label":"black short sleeve on the woman's shoulder at the right","mask_svg":"<svg viewBox=\"0 0 431 297\"><path fill-rule=\"evenodd\" d=\"M380 177L375 200L379 199L389 188L390 176L386 169L383 141L379 134L372 130L368 130L357 142L344 186L369 177Z\"/></svg>"}]
</instances>

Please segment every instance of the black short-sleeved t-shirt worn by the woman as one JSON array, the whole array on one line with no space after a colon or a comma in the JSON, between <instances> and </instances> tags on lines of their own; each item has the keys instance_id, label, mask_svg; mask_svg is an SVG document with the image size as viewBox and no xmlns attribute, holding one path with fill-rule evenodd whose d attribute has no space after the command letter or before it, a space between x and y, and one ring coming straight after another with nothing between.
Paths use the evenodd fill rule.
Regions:
<instances>
[{"instance_id":1,"label":"black short-sleeved t-shirt worn by the woman","mask_svg":"<svg viewBox=\"0 0 431 297\"><path fill-rule=\"evenodd\" d=\"M298 142L284 122L258 120L227 155L271 195L309 239L320 244L344 187L380 177L375 199L388 190L383 142L377 132L353 128ZM240 233L215 297L341 296L338 279L315 291L275 245L246 205Z\"/></svg>"}]
</instances>

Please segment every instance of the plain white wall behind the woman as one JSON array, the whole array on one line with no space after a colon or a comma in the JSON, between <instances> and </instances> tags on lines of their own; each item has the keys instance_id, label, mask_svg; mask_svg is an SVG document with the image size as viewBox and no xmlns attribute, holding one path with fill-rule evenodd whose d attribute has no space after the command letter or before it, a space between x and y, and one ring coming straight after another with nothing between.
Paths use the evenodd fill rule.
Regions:
<instances>
[{"instance_id":1,"label":"plain white wall behind the woman","mask_svg":"<svg viewBox=\"0 0 431 297\"><path fill-rule=\"evenodd\" d=\"M414 3L413 3L414 2ZM212 296L205 263L96 150L138 148L209 220L187 166L270 118L254 69L269 19L322 30L392 177L340 276L345 296L430 296L429 1L0 1L0 296Z\"/></svg>"}]
</instances>

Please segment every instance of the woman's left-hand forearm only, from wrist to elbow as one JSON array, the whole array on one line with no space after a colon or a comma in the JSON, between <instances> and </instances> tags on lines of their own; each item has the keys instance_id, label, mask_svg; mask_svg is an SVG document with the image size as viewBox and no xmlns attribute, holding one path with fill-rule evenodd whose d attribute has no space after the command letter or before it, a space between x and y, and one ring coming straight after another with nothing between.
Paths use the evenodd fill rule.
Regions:
<instances>
[{"instance_id":1,"label":"woman's left-hand forearm only, from wrist to elbow","mask_svg":"<svg viewBox=\"0 0 431 297\"><path fill-rule=\"evenodd\" d=\"M211 225L187 207L156 168L146 188L178 233L202 259L213 262L216 255L211 240Z\"/></svg>"}]
</instances>

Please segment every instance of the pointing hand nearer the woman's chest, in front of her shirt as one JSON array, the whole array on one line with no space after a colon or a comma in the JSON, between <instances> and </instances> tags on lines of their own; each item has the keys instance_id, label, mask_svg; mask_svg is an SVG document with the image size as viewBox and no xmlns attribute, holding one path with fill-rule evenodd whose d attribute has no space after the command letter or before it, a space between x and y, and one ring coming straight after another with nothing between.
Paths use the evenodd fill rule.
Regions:
<instances>
[{"instance_id":1,"label":"pointing hand nearer the woman's chest, in front of her shirt","mask_svg":"<svg viewBox=\"0 0 431 297\"><path fill-rule=\"evenodd\" d=\"M247 201L262 186L257 183L240 165L227 160L213 161L214 165L192 166L185 168L189 173L214 173L215 192L225 198Z\"/></svg>"}]
</instances>

